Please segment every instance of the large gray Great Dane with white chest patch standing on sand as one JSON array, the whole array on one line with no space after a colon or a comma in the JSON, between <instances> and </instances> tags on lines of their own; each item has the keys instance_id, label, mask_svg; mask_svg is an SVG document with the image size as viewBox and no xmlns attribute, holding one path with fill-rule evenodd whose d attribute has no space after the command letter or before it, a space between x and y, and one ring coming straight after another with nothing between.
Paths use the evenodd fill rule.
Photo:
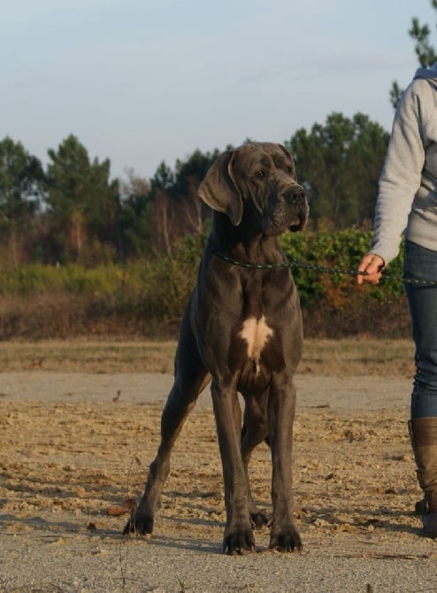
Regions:
<instances>
[{"instance_id":1,"label":"large gray Great Dane with white chest patch standing on sand","mask_svg":"<svg viewBox=\"0 0 437 593\"><path fill-rule=\"evenodd\" d=\"M255 550L253 528L265 524L271 529L272 549L300 550L291 489L293 375L303 347L295 282L286 266L244 268L219 254L242 263L286 262L279 236L305 226L305 192L297 184L288 150L271 142L250 142L222 154L198 193L213 211L211 235L181 322L157 457L125 533L152 532L173 444L211 381L225 484L224 551ZM245 403L243 418L238 392ZM272 451L270 519L258 510L249 488L250 454L262 441Z\"/></svg>"}]
</instances>

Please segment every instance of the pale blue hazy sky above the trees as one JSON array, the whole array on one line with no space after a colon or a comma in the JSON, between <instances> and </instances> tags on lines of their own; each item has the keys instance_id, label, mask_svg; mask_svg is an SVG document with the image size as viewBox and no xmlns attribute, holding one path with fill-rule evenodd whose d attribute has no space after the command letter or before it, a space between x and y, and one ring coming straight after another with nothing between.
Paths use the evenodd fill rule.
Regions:
<instances>
[{"instance_id":1,"label":"pale blue hazy sky above the trees","mask_svg":"<svg viewBox=\"0 0 437 593\"><path fill-rule=\"evenodd\" d=\"M284 142L332 112L391 128L430 0L14 0L0 8L0 140L44 165L73 134L149 179L195 150ZM297 172L298 173L298 172Z\"/></svg>"}]
</instances>

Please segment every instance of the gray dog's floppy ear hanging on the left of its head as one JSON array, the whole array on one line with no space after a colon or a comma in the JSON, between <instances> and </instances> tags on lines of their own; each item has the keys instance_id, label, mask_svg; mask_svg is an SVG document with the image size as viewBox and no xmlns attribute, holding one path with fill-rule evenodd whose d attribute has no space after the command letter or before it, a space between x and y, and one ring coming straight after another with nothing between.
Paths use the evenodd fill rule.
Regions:
<instances>
[{"instance_id":1,"label":"gray dog's floppy ear hanging on the left of its head","mask_svg":"<svg viewBox=\"0 0 437 593\"><path fill-rule=\"evenodd\" d=\"M225 212L234 227L242 221L242 195L234 182L235 150L227 150L213 163L199 186L198 194L212 210Z\"/></svg>"}]
</instances>

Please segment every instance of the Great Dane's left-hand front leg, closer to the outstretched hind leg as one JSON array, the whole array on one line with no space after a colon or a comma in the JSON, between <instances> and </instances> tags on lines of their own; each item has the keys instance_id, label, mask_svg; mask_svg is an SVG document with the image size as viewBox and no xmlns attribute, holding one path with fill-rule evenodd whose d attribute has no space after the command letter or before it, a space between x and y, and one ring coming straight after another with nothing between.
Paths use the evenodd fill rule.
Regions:
<instances>
[{"instance_id":1,"label":"Great Dane's left-hand front leg, closer to the outstretched hind leg","mask_svg":"<svg viewBox=\"0 0 437 593\"><path fill-rule=\"evenodd\" d=\"M246 476L242 463L242 412L234 388L211 386L212 402L219 437L219 448L225 483L226 529L223 551L242 554L255 550Z\"/></svg>"}]
</instances>

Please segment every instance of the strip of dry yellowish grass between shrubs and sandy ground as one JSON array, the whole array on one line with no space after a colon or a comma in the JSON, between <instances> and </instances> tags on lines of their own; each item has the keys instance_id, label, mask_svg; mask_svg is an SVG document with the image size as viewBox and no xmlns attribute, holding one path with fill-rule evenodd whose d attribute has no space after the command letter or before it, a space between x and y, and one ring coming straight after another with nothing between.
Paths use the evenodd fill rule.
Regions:
<instances>
[{"instance_id":1,"label":"strip of dry yellowish grass between shrubs and sandy ground","mask_svg":"<svg viewBox=\"0 0 437 593\"><path fill-rule=\"evenodd\" d=\"M0 371L173 373L176 343L119 339L0 343ZM413 374L409 340L305 340L301 374L352 376Z\"/></svg>"}]
</instances>

